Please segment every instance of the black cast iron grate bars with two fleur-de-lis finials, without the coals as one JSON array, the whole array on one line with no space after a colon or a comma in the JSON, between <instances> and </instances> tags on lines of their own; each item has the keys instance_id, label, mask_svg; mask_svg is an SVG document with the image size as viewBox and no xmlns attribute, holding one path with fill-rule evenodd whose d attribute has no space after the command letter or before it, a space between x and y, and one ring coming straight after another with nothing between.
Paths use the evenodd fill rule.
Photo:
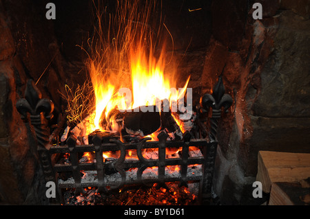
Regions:
<instances>
[{"instance_id":1,"label":"black cast iron grate bars with two fleur-de-lis finials, without the coals","mask_svg":"<svg viewBox=\"0 0 310 219\"><path fill-rule=\"evenodd\" d=\"M110 139L111 143L103 143L103 139L99 135L94 135L92 144L77 145L74 136L68 137L65 146L51 146L49 135L48 119L52 117L54 104L48 99L42 99L41 93L34 83L29 80L25 89L25 98L17 102L17 110L21 113L25 122L30 120L31 126L34 127L37 139L38 154L41 168L45 181L53 181L58 189L56 202L63 202L63 194L61 189L75 188L76 193L83 194L85 187L97 187L97 192L108 193L113 189L120 189L124 185L158 183L159 186L165 187L166 182L180 182L179 186L187 186L188 181L199 181L200 192L199 200L201 204L208 204L211 200L211 186L214 174L214 163L216 158L216 148L218 141L216 139L218 119L222 112L231 106L232 99L230 95L225 94L225 88L222 78L219 77L218 82L214 86L213 94L205 94L200 98L200 106L203 111L209 111L212 108L210 118L209 141L206 139L190 139L183 137L183 141L167 141L167 133L160 132L158 141L147 141L144 138L138 143L122 143L118 139ZM28 114L30 116L28 117ZM198 147L202 149L203 156L189 157L189 148ZM158 150L158 159L146 159L143 157L143 150L153 148ZM166 148L182 148L182 155L178 158L167 158ZM138 156L136 160L125 159L127 150L134 150ZM120 156L113 161L103 159L103 152L119 151ZM96 162L83 163L79 161L79 153L94 152ZM57 154L70 154L71 163L62 164L55 163ZM196 176L188 176L188 166L192 164L200 164L203 166L202 174ZM169 177L165 174L165 168L171 165L180 165L179 176ZM143 179L143 171L147 168L157 168L157 177L152 179ZM130 168L138 168L136 178L128 178L126 172ZM121 181L109 182L107 178L107 170L115 170L120 174ZM81 171L96 171L96 181L83 183ZM67 183L59 183L60 172L72 172L74 181Z\"/></svg>"}]
</instances>

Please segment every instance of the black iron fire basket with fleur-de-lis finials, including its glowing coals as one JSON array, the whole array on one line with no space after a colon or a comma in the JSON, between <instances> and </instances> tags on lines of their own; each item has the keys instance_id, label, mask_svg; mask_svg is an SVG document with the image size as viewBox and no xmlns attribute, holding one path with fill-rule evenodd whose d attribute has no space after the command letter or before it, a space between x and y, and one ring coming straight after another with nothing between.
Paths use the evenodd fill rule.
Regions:
<instances>
[{"instance_id":1,"label":"black iron fire basket with fleur-de-lis finials, including its glowing coals","mask_svg":"<svg viewBox=\"0 0 310 219\"><path fill-rule=\"evenodd\" d=\"M51 100L41 98L41 92L32 80L28 81L25 98L17 101L17 111L25 123L29 123L34 129L35 135L31 137L37 139L37 151L45 183L46 185L52 183L54 189L57 188L57 192L55 190L52 192L54 195L48 197L55 198L54 202L70 203L65 200L63 194L63 189L69 188L74 188L75 194L85 194L87 188L92 190L96 188L96 192L91 193L94 195L121 191L126 185L152 187L156 183L157 187L169 190L166 182L178 182L179 187L188 187L189 181L196 181L199 182L196 185L199 187L199 192L193 195L193 200L197 196L200 204L207 204L214 202L211 189L218 144L216 137L218 119L221 117L222 108L227 111L232 102L230 95L225 94L223 80L219 77L212 95L208 93L203 95L200 98L200 106L196 106L194 115L190 117L176 114L175 116L180 119L176 120L168 109L142 112L146 113L143 117L145 121L140 121L136 119L136 115L140 116L141 112L130 110L127 111L129 114L123 113L116 117L118 121L124 121L119 133L112 130L95 130L86 136L82 135L83 128L80 127L87 126L86 124L90 122L90 119L84 119L72 128L72 131L69 131L70 127L67 126L60 141L59 132L63 129L61 126L63 122L49 134L48 120L53 117L54 104ZM212 109L210 132L207 135L204 121L210 108ZM192 112L192 109L190 110ZM133 135L132 131L136 129L132 127L143 122L152 123L154 114L158 115L156 118L159 119L159 128L153 130L151 128L152 131L149 131L147 128L142 128L143 126L138 126L140 131ZM127 115L131 119L130 123L126 122ZM192 126L187 127L185 131L181 122L189 120ZM183 127L183 132L180 127ZM74 129L82 130L77 134ZM149 137L144 137L143 134ZM171 156L167 157L169 154ZM88 199L89 196L87 193Z\"/></svg>"}]
</instances>

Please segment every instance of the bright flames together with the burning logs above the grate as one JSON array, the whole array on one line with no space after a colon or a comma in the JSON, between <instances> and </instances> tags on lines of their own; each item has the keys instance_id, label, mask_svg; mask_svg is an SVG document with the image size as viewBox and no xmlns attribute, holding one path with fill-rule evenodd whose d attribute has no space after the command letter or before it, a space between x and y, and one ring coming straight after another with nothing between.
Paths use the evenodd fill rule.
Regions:
<instances>
[{"instance_id":1,"label":"bright flames together with the burning logs above the grate","mask_svg":"<svg viewBox=\"0 0 310 219\"><path fill-rule=\"evenodd\" d=\"M61 141L71 132L78 143L87 144L87 136L99 131L118 135L123 142L128 142L124 135L136 139L151 137L157 141L162 130L170 139L182 139L183 133L192 128L192 90L187 89L190 77L183 88L176 89L176 69L170 67L165 71L165 43L158 45L165 25L156 26L151 17L156 12L156 4L155 1L117 1L114 16L109 14L108 18L106 10L101 12L98 5L98 27L90 42L92 51L87 61L91 93L94 93L92 106L87 106L91 110L83 119L79 115L82 112L76 113L81 107L76 104L78 97L90 97L80 96L83 89L74 93L71 100L67 97L68 123L76 126L68 126ZM154 35L156 27L158 31ZM174 66L171 57L169 65ZM92 160L91 154L84 156ZM105 159L109 156L103 154Z\"/></svg>"}]
</instances>

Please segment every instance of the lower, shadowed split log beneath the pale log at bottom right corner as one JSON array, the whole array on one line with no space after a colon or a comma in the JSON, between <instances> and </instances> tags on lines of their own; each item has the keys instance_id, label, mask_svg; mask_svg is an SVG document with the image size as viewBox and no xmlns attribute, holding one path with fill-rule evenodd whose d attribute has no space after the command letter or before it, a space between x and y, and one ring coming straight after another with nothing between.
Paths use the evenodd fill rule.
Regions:
<instances>
[{"instance_id":1,"label":"lower, shadowed split log beneath the pale log at bottom right corner","mask_svg":"<svg viewBox=\"0 0 310 219\"><path fill-rule=\"evenodd\" d=\"M294 183L272 183L269 205L310 205L310 178Z\"/></svg>"}]
</instances>

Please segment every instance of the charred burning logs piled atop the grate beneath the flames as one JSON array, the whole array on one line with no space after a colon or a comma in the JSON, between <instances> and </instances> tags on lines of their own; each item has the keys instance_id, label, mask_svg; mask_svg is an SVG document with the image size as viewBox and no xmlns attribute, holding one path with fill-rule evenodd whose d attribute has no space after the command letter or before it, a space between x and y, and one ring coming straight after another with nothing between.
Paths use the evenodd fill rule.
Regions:
<instances>
[{"instance_id":1,"label":"charred burning logs piled atop the grate beneath the flames","mask_svg":"<svg viewBox=\"0 0 310 219\"><path fill-rule=\"evenodd\" d=\"M92 134L86 136L86 130L91 124L90 119L93 117L93 115L88 115L82 122L76 124L74 128L72 126L65 128L61 141L65 141L70 133L78 139L78 144L92 143L92 137L94 135L101 135L103 143L107 143L111 137L121 139L123 142L133 142L140 141L142 137L153 133L156 135L157 132L162 130L167 132L169 139L183 139L183 129L186 127L190 130L193 124L193 117L186 121L180 119L178 114L180 112L172 113L168 100L162 100L161 106L159 107L161 109L157 105L139 106L131 111L125 112L115 107L107 116L105 115L105 111L103 111L99 124L105 132L95 130ZM180 124L183 124L183 128L180 128ZM106 142L105 139L107 139Z\"/></svg>"}]
</instances>

